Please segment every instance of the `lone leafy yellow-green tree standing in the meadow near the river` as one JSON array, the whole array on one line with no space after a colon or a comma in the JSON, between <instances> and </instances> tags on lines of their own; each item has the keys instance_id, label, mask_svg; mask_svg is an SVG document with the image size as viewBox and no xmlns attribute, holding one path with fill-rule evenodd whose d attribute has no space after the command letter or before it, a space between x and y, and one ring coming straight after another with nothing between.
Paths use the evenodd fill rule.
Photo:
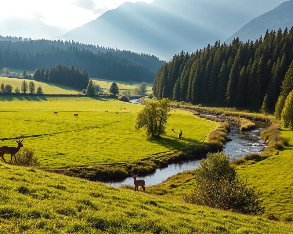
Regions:
<instances>
[{"instance_id":1,"label":"lone leafy yellow-green tree standing in the meadow near the river","mask_svg":"<svg viewBox=\"0 0 293 234\"><path fill-rule=\"evenodd\" d=\"M163 98L158 101L150 101L144 106L136 117L134 129L143 128L146 134L152 137L160 137L166 134L166 126L170 117L170 101Z\"/></svg>"}]
</instances>

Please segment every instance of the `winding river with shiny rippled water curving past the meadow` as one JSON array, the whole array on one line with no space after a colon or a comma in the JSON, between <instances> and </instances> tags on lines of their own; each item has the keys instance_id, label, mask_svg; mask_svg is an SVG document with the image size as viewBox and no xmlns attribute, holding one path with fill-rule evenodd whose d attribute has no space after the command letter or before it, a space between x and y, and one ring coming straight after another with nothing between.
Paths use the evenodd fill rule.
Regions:
<instances>
[{"instance_id":1,"label":"winding river with shiny rippled water curving past the meadow","mask_svg":"<svg viewBox=\"0 0 293 234\"><path fill-rule=\"evenodd\" d=\"M139 104L138 99L130 100L130 102ZM204 113L202 113L202 115L208 115L224 119L220 115L210 115ZM249 153L261 153L266 148L266 143L261 139L260 133L263 129L270 126L269 123L252 121L256 125L255 129L252 129L250 131L240 131L239 123L230 121L228 119L225 120L229 122L231 126L231 131L229 133L231 141L226 143L223 151L230 155L231 160L233 160L234 158L240 158ZM139 176L138 179L143 179L146 182L146 186L155 185L163 182L170 176L178 174L179 172L196 169L201 159L202 158L191 161L172 163L165 168L156 169L154 173L151 173L149 175ZM132 185L133 178L128 177L119 181L106 182L106 184L114 187L119 187L121 185L127 184Z\"/></svg>"}]
</instances>

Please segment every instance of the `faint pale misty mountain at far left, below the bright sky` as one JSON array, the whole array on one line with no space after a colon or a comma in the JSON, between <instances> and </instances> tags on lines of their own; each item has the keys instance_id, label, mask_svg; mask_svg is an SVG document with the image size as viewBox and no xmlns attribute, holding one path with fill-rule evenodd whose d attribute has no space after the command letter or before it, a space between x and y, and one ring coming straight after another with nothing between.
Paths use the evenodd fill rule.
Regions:
<instances>
[{"instance_id":1,"label":"faint pale misty mountain at far left, below the bright sky","mask_svg":"<svg viewBox=\"0 0 293 234\"><path fill-rule=\"evenodd\" d=\"M66 29L43 23L40 19L10 18L0 22L0 35L51 39L66 32Z\"/></svg>"}]
</instances>

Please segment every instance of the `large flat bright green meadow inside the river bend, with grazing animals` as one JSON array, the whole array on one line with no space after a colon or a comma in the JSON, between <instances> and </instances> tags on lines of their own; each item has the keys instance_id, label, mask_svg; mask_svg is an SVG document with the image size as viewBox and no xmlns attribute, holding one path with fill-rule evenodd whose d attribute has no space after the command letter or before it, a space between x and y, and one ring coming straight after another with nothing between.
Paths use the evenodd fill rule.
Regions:
<instances>
[{"instance_id":1,"label":"large flat bright green meadow inside the river bend, with grazing animals","mask_svg":"<svg viewBox=\"0 0 293 234\"><path fill-rule=\"evenodd\" d=\"M24 134L23 144L35 151L41 168L112 165L198 144L216 126L178 110L168 121L167 135L153 139L133 128L142 108L114 99L0 96L1 145L14 144L14 133ZM179 128L183 139L178 139Z\"/></svg>"}]
</instances>

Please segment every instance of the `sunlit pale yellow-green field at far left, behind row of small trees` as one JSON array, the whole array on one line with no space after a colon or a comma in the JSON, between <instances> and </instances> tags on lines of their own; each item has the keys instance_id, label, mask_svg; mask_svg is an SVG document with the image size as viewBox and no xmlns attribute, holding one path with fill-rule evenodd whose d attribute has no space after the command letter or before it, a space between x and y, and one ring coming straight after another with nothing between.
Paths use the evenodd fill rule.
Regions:
<instances>
[{"instance_id":1,"label":"sunlit pale yellow-green field at far left, behind row of small trees","mask_svg":"<svg viewBox=\"0 0 293 234\"><path fill-rule=\"evenodd\" d=\"M23 79L18 78L8 78L0 76L0 84L10 84L13 87L13 92L16 87L21 87L21 83L23 82ZM27 82L30 82L31 80L26 80ZM36 90L39 85L41 85L42 90L45 94L78 94L79 91L75 90L74 88L60 85L60 84L51 84L51 83L45 83L40 81L32 80L36 86Z\"/></svg>"}]
</instances>

